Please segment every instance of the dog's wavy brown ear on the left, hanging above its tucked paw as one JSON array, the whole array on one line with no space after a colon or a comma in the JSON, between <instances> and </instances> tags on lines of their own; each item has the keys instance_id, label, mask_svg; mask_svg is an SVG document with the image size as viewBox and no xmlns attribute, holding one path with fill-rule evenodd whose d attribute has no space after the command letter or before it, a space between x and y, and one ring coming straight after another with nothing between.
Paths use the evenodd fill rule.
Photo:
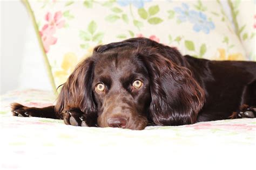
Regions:
<instances>
[{"instance_id":1,"label":"dog's wavy brown ear on the left, hanging above its tucked paw","mask_svg":"<svg viewBox=\"0 0 256 170\"><path fill-rule=\"evenodd\" d=\"M94 61L92 58L87 58L76 66L60 90L55 106L57 113L69 108L78 108L87 115L97 111L91 90L93 69Z\"/></svg>"}]
</instances>

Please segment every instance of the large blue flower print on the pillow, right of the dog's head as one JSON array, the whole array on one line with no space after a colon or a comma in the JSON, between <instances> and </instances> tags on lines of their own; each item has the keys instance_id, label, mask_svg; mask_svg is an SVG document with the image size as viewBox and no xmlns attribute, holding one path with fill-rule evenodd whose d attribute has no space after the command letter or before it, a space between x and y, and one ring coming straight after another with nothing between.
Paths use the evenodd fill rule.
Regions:
<instances>
[{"instance_id":1,"label":"large blue flower print on the pillow, right of the dog's head","mask_svg":"<svg viewBox=\"0 0 256 170\"><path fill-rule=\"evenodd\" d=\"M190 10L189 6L185 3L182 4L182 8L174 8L174 11L179 14L178 19L180 22L189 21L194 24L193 30L196 32L203 31L204 33L208 34L215 28L214 23L208 21L204 13Z\"/></svg>"}]
</instances>

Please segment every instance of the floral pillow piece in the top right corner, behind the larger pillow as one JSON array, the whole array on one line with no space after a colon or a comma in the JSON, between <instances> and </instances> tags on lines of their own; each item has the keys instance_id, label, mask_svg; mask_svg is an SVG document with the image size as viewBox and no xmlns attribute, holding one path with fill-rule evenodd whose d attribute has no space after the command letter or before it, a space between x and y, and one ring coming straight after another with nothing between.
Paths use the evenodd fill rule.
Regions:
<instances>
[{"instance_id":1,"label":"floral pillow piece in the top right corner, behind the larger pillow","mask_svg":"<svg viewBox=\"0 0 256 170\"><path fill-rule=\"evenodd\" d=\"M256 0L228 0L235 31L246 49L248 59L256 61Z\"/></svg>"}]
</instances>

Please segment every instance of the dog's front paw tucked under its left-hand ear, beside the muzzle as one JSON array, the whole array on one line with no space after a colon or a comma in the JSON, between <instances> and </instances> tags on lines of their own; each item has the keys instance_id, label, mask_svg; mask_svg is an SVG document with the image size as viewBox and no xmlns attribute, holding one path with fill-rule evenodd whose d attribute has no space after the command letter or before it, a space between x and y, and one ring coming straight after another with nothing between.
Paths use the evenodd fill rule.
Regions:
<instances>
[{"instance_id":1,"label":"dog's front paw tucked under its left-hand ear, beside the muzzle","mask_svg":"<svg viewBox=\"0 0 256 170\"><path fill-rule=\"evenodd\" d=\"M85 116L80 109L69 109L64 112L63 119L65 124L73 126L87 126Z\"/></svg>"}]
</instances>

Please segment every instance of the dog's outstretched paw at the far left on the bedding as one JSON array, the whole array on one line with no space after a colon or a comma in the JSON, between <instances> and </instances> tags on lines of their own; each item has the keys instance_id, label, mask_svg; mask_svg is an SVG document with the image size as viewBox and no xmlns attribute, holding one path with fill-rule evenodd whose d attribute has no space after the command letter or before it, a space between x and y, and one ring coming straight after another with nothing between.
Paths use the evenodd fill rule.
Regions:
<instances>
[{"instance_id":1,"label":"dog's outstretched paw at the far left on the bedding","mask_svg":"<svg viewBox=\"0 0 256 170\"><path fill-rule=\"evenodd\" d=\"M19 116L19 117L31 117L32 112L29 111L28 107L25 107L22 104L19 103L12 103L11 104L11 112L13 116Z\"/></svg>"}]
</instances>

